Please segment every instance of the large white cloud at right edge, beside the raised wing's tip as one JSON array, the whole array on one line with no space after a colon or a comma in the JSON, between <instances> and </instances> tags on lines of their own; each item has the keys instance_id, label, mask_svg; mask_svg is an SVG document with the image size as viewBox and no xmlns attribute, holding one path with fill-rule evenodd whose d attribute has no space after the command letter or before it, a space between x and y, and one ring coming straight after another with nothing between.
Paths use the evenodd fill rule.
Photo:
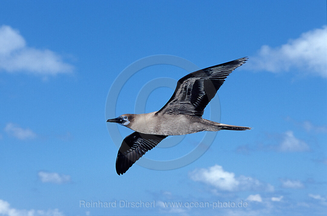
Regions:
<instances>
[{"instance_id":1,"label":"large white cloud at right edge, beside the raised wing's tip","mask_svg":"<svg viewBox=\"0 0 327 216\"><path fill-rule=\"evenodd\" d=\"M294 68L301 73L327 78L327 28L302 33L280 47L263 45L256 56L250 57L246 67L274 73Z\"/></svg>"}]
</instances>

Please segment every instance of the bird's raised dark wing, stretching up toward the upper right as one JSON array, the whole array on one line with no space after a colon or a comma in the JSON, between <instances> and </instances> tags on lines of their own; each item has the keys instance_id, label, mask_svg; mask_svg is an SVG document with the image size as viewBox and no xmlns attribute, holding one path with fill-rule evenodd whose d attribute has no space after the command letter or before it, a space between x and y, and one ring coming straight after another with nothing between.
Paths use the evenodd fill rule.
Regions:
<instances>
[{"instance_id":1,"label":"bird's raised dark wing, stretching up toward the upper right","mask_svg":"<svg viewBox=\"0 0 327 216\"><path fill-rule=\"evenodd\" d=\"M248 58L207 67L192 72L177 82L173 96L157 113L186 114L202 117L204 108L215 97L226 77Z\"/></svg>"}]
</instances>

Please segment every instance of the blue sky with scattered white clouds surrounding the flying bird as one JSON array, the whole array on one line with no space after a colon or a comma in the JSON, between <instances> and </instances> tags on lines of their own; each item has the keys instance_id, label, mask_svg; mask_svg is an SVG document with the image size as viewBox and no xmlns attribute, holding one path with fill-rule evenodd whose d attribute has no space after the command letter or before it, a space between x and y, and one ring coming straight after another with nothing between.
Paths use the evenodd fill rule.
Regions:
<instances>
[{"instance_id":1,"label":"blue sky with scattered white clouds surrounding the flying bird","mask_svg":"<svg viewBox=\"0 0 327 216\"><path fill-rule=\"evenodd\" d=\"M323 215L326 35L325 1L2 2L0 215ZM152 55L199 68L248 56L214 99L220 108L210 109L221 115L210 117L208 107L204 117L254 129L208 132L216 133L212 144L204 140L208 151L179 169L133 165L118 176L108 92L124 68ZM149 82L157 89L145 111L159 110L173 90L151 81L187 73L173 65L140 70L113 101L112 117L134 113ZM123 137L132 132L118 128ZM160 148L167 138L145 157L179 158L204 134ZM119 207L120 200L155 207ZM189 207L218 201L248 206Z\"/></svg>"}]
</instances>

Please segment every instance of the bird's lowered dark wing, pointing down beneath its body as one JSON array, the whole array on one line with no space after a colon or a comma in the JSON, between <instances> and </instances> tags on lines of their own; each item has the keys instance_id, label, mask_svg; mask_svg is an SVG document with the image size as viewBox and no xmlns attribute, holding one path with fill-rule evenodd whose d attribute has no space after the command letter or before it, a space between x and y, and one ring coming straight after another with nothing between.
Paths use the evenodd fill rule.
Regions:
<instances>
[{"instance_id":1,"label":"bird's lowered dark wing, pointing down beneath its body","mask_svg":"<svg viewBox=\"0 0 327 216\"><path fill-rule=\"evenodd\" d=\"M125 137L116 159L116 172L124 174L140 157L160 143L166 135L134 132Z\"/></svg>"}]
</instances>

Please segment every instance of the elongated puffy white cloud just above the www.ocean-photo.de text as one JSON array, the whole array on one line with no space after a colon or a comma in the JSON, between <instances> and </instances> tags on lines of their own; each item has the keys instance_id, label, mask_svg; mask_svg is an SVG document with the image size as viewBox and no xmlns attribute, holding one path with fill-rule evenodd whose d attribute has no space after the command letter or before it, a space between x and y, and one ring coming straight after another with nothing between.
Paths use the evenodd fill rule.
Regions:
<instances>
[{"instance_id":1,"label":"elongated puffy white cloud just above the www.ocean-photo.de text","mask_svg":"<svg viewBox=\"0 0 327 216\"><path fill-rule=\"evenodd\" d=\"M274 190L272 185L264 184L252 177L244 175L235 177L233 172L224 171L222 166L219 165L214 165L208 169L196 169L190 172L189 176L194 181L214 186L215 189L220 191Z\"/></svg>"}]
</instances>

